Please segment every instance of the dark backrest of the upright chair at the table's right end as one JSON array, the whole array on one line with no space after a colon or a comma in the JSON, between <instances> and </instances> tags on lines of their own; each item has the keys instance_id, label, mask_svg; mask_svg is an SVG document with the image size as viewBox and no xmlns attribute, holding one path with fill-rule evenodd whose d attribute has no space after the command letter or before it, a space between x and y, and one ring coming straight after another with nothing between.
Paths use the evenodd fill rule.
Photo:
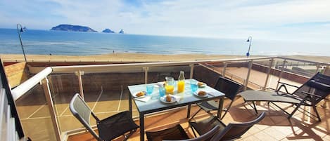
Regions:
<instances>
[{"instance_id":1,"label":"dark backrest of the upright chair at the table's right end","mask_svg":"<svg viewBox=\"0 0 330 141\"><path fill-rule=\"evenodd\" d=\"M215 89L224 93L227 98L230 100L234 100L239 90L242 88L240 83L232 81L230 79L226 79L222 76L217 79L217 83L215 83Z\"/></svg>"}]
</instances>

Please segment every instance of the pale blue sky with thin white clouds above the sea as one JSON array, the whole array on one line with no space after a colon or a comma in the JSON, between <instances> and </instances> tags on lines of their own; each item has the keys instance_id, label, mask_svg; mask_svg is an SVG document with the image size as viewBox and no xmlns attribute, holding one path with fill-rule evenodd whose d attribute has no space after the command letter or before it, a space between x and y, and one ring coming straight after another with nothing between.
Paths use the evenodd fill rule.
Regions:
<instances>
[{"instance_id":1,"label":"pale blue sky with thin white clouds above the sea","mask_svg":"<svg viewBox=\"0 0 330 141\"><path fill-rule=\"evenodd\" d=\"M1 0L0 28L83 25L101 32L330 43L324 0Z\"/></svg>"}]
</instances>

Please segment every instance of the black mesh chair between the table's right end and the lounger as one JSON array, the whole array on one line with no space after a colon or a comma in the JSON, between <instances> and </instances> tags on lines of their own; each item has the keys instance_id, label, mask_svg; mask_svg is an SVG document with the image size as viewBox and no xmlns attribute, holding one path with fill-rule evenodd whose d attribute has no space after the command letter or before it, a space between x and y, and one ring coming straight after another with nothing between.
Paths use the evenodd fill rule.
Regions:
<instances>
[{"instance_id":1,"label":"black mesh chair between the table's right end and the lounger","mask_svg":"<svg viewBox=\"0 0 330 141\"><path fill-rule=\"evenodd\" d=\"M231 105L233 104L237 93L239 93L239 91L241 90L241 88L243 88L243 86L240 83L237 83L235 81L232 81L230 79L220 76L219 79L217 79L217 83L215 83L214 88L216 90L219 90L220 92L224 93L225 97L229 98L229 100L231 100L228 107L226 109L223 109L224 114L221 117L221 119L223 119L224 116L229 111ZM219 103L216 102L215 100L211 100L211 101L207 101L207 102L198 103L197 105L199 107L201 107L201 109L203 109L205 112L210 113L211 111L215 111L218 109ZM193 114L193 116L191 116L191 119L193 119L193 117L196 116L196 114L198 114L198 112L200 112L201 109L198 109L198 111L195 114Z\"/></svg>"}]
</instances>

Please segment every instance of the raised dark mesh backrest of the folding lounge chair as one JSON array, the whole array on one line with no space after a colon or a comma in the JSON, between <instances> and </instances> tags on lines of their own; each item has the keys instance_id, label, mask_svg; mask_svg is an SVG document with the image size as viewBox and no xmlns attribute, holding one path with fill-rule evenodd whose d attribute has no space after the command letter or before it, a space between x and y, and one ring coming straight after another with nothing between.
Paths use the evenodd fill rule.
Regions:
<instances>
[{"instance_id":1,"label":"raised dark mesh backrest of the folding lounge chair","mask_svg":"<svg viewBox=\"0 0 330 141\"><path fill-rule=\"evenodd\" d=\"M310 80L293 92L293 94L298 95L300 98L305 98L306 94L303 92L318 95L319 97L311 96L312 100L314 100L315 103L318 103L330 94L330 76L326 76L318 72L315 76L312 76Z\"/></svg>"}]
</instances>

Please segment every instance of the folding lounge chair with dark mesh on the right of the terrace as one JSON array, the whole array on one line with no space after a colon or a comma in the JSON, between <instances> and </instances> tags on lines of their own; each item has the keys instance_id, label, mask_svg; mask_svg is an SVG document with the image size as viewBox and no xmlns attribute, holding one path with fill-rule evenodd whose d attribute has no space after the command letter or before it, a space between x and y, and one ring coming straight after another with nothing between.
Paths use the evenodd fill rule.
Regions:
<instances>
[{"instance_id":1,"label":"folding lounge chair with dark mesh on the right of the terrace","mask_svg":"<svg viewBox=\"0 0 330 141\"><path fill-rule=\"evenodd\" d=\"M256 113L258 113L254 103L256 101L265 101L268 102L268 104L269 102L272 102L272 104L277 107L279 107L279 105L276 105L274 102L286 102L296 106L296 108L293 109L293 112L291 113L288 113L284 109L279 107L279 109L288 114L288 119L291 118L291 116L300 108L301 105L304 105L312 107L316 115L311 114L310 112L308 113L312 116L316 116L317 119L321 121L319 113L317 112L316 105L321 100L326 99L326 97L330 94L330 76L317 73L302 86L293 86L298 88L293 93L288 93L286 86L292 85L282 83L279 89L277 89L275 92L246 90L242 93L239 93L239 95L243 97L245 102L253 103L253 108L255 109ZM284 90L286 90L286 93L281 93L279 91L281 88L284 88Z\"/></svg>"}]
</instances>

